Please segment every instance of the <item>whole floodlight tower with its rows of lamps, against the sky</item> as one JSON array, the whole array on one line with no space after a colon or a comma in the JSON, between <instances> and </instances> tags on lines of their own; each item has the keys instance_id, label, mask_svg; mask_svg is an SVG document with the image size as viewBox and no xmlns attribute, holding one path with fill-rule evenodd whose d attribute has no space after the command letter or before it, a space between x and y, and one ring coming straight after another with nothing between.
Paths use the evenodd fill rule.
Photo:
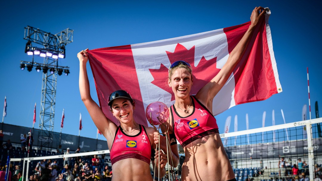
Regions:
<instances>
[{"instance_id":1,"label":"whole floodlight tower with its rows of lamps, against the sky","mask_svg":"<svg viewBox=\"0 0 322 181\"><path fill-rule=\"evenodd\" d=\"M51 34L43 30L27 26L24 28L24 39L28 40L25 47L27 55L43 57L43 63L21 61L20 68L24 70L27 67L30 72L33 66L36 71L43 69L43 83L40 106L39 120L39 138L41 147L51 148L53 139L55 100L57 87L57 74L68 75L69 67L58 65L59 58L65 58L65 46L73 41L74 30L65 29L57 34ZM43 47L34 47L32 44L38 44Z\"/></svg>"}]
</instances>

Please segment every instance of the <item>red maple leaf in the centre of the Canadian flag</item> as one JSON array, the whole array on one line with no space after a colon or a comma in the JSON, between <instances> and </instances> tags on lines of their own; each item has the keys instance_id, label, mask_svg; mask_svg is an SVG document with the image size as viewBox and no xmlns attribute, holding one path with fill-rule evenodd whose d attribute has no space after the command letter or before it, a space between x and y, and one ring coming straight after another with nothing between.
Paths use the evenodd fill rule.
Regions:
<instances>
[{"instance_id":1,"label":"red maple leaf in the centre of the Canadian flag","mask_svg":"<svg viewBox=\"0 0 322 181\"><path fill-rule=\"evenodd\" d=\"M183 45L178 43L173 53L168 51L166 51L166 53L171 64L178 60L184 60L191 65L194 79L194 85L192 86L191 94L196 94L204 85L206 85L211 81L211 79L213 79L214 75L216 75L220 71L220 69L216 67L217 57L206 60L204 56L202 56L198 65L195 66L194 46L188 50ZM168 86L167 77L169 76L169 68L161 64L159 69L149 69L149 71L154 78L151 83L169 92L172 95L171 101L175 100L175 95L171 87Z\"/></svg>"}]
</instances>

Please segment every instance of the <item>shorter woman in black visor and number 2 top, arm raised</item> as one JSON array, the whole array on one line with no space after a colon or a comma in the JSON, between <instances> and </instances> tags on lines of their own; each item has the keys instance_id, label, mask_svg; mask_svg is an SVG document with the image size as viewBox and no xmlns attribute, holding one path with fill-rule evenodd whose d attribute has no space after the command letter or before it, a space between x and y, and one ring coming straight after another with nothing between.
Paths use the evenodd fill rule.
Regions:
<instances>
[{"instance_id":1,"label":"shorter woman in black visor and number 2 top, arm raised","mask_svg":"<svg viewBox=\"0 0 322 181\"><path fill-rule=\"evenodd\" d=\"M151 150L156 149L154 128L137 124L133 117L135 100L125 90L112 92L108 97L108 105L113 116L118 120L116 125L109 120L90 96L90 85L87 77L86 63L88 49L77 54L80 61L79 87L81 99L90 113L94 124L104 135L110 150L113 170L113 181L152 181L150 173ZM160 160L158 155L160 154ZM156 151L156 166L160 163L161 174L166 173L166 155ZM157 175L157 173L156 173Z\"/></svg>"}]
</instances>

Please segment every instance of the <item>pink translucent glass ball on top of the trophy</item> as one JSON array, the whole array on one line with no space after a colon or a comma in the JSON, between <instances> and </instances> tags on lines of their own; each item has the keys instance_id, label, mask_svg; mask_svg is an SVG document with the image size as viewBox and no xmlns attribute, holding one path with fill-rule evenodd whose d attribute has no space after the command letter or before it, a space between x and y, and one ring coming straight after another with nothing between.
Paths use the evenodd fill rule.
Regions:
<instances>
[{"instance_id":1,"label":"pink translucent glass ball on top of the trophy","mask_svg":"<svg viewBox=\"0 0 322 181\"><path fill-rule=\"evenodd\" d=\"M145 110L150 124L161 125L169 118L169 109L163 102L152 102Z\"/></svg>"}]
</instances>

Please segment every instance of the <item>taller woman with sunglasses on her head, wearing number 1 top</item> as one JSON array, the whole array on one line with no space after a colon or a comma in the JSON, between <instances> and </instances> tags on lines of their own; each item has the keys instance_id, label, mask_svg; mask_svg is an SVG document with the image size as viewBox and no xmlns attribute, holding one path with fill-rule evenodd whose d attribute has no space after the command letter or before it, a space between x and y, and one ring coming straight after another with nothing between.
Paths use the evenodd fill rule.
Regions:
<instances>
[{"instance_id":1,"label":"taller woman with sunglasses on her head, wearing number 1 top","mask_svg":"<svg viewBox=\"0 0 322 181\"><path fill-rule=\"evenodd\" d=\"M251 25L230 53L223 68L209 83L201 87L196 95L190 95L193 85L191 66L185 61L176 61L169 67L168 85L174 92L175 104L169 108L171 114L167 121L168 133L171 140L175 134L185 152L182 180L236 180L219 135L216 119L213 117L213 98L241 60L256 26L264 18L264 13L262 7L253 10ZM162 131L165 132L165 129ZM155 140L157 143L157 135ZM171 146L175 154L172 156L175 163L178 162L176 147ZM166 148L163 147L162 150Z\"/></svg>"}]
</instances>

